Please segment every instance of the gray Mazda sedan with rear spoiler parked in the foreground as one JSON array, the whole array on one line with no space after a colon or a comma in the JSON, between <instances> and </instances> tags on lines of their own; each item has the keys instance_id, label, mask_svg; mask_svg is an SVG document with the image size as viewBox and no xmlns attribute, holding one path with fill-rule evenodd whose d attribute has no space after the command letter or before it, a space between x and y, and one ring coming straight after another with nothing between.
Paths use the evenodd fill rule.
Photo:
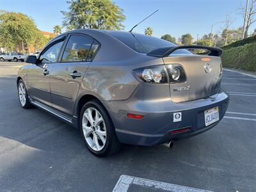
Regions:
<instances>
[{"instance_id":1,"label":"gray Mazda sedan with rear spoiler parked in the foreground","mask_svg":"<svg viewBox=\"0 0 256 192\"><path fill-rule=\"evenodd\" d=\"M225 115L221 52L125 31L69 31L26 58L19 100L80 129L96 156L120 143L168 143L207 131Z\"/></svg>"}]
</instances>

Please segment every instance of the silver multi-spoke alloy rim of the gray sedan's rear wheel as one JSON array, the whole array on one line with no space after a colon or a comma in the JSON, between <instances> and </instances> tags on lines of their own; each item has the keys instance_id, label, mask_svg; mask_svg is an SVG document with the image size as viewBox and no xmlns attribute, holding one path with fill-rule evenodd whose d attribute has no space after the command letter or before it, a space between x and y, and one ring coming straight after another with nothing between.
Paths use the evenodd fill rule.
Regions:
<instances>
[{"instance_id":1,"label":"silver multi-spoke alloy rim of the gray sedan's rear wheel","mask_svg":"<svg viewBox=\"0 0 256 192\"><path fill-rule=\"evenodd\" d=\"M86 143L95 151L100 151L106 145L106 125L100 112L95 108L84 111L82 120L83 134Z\"/></svg>"}]
</instances>

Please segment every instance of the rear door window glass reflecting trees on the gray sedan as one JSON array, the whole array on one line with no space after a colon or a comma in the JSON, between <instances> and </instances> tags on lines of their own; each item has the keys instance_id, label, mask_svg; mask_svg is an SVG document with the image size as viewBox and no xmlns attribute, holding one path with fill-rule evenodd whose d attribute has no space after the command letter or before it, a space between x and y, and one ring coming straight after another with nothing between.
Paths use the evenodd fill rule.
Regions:
<instances>
[{"instance_id":1,"label":"rear door window glass reflecting trees on the gray sedan","mask_svg":"<svg viewBox=\"0 0 256 192\"><path fill-rule=\"evenodd\" d=\"M93 40L90 37L82 35L70 36L61 62L87 61L86 56L90 52L92 42Z\"/></svg>"}]
</instances>

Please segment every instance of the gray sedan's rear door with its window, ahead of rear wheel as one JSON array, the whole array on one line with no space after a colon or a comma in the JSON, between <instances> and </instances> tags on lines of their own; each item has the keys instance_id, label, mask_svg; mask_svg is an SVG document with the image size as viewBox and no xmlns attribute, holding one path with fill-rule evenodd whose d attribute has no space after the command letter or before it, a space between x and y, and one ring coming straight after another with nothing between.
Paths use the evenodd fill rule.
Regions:
<instances>
[{"instance_id":1,"label":"gray sedan's rear door with its window, ahead of rear wheel","mask_svg":"<svg viewBox=\"0 0 256 192\"><path fill-rule=\"evenodd\" d=\"M99 43L90 36L72 34L64 47L59 63L52 67L52 107L72 115L81 81Z\"/></svg>"}]
</instances>

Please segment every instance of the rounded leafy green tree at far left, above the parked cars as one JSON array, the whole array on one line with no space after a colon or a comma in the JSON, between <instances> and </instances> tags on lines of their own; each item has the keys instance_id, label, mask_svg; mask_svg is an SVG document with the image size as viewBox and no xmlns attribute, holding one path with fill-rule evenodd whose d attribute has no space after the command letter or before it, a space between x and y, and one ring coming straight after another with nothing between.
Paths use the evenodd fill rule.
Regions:
<instances>
[{"instance_id":1,"label":"rounded leafy green tree at far left, above the parked cars","mask_svg":"<svg viewBox=\"0 0 256 192\"><path fill-rule=\"evenodd\" d=\"M19 44L25 44L29 49L29 45L35 42L37 34L35 22L27 15L0 12L0 40L4 48L13 50Z\"/></svg>"}]
</instances>

